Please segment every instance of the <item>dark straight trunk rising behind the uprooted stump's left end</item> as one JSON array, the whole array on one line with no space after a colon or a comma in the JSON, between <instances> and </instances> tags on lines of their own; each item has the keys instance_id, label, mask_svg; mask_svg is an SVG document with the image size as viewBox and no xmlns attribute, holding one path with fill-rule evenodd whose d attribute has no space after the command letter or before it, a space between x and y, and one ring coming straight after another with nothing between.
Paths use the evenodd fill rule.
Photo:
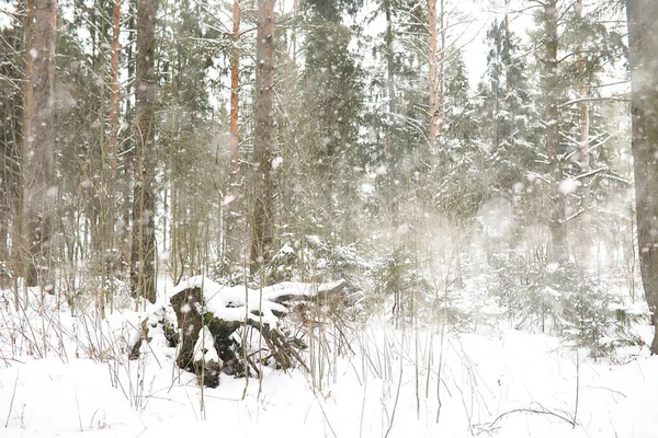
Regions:
<instances>
[{"instance_id":1,"label":"dark straight trunk rising behind the uprooted stump's left end","mask_svg":"<svg viewBox=\"0 0 658 438\"><path fill-rule=\"evenodd\" d=\"M135 297L156 302L155 229L155 74L156 0L137 3L137 50L135 78L135 181L133 197L133 244L131 289Z\"/></svg>"}]
</instances>

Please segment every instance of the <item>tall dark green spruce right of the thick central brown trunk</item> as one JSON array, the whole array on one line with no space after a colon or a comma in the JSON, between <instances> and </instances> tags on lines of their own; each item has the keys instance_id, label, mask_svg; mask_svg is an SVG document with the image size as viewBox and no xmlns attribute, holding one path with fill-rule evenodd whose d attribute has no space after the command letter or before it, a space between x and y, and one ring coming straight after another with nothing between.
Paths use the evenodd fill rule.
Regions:
<instances>
[{"instance_id":1,"label":"tall dark green spruce right of the thick central brown trunk","mask_svg":"<svg viewBox=\"0 0 658 438\"><path fill-rule=\"evenodd\" d=\"M354 203L350 184L354 168L362 168L365 159L360 143L363 71L358 55L349 47L352 31L341 14L350 13L355 5L314 0L303 1L299 7L308 25L302 27L302 113L295 138L298 149L303 148L297 157L308 180L298 187L304 200L297 224L304 234L329 237L338 229L354 232L345 211ZM322 223L332 227L318 227Z\"/></svg>"}]
</instances>

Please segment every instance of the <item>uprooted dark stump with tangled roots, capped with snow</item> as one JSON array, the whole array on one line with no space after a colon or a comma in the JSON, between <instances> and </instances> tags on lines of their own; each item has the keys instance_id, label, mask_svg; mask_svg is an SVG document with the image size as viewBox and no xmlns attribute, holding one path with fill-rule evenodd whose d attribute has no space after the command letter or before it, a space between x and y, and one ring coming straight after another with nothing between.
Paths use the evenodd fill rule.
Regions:
<instances>
[{"instance_id":1,"label":"uprooted dark stump with tangled roots, capped with snow","mask_svg":"<svg viewBox=\"0 0 658 438\"><path fill-rule=\"evenodd\" d=\"M256 290L222 286L201 276L182 281L170 298L180 334L177 364L208 387L218 384L219 371L247 376L253 370L258 374L263 365L306 369L299 354L305 343L281 330L280 318L300 303L340 299L345 286L342 280L283 283ZM260 334L262 349L242 345L246 337L238 334L240 328Z\"/></svg>"}]
</instances>

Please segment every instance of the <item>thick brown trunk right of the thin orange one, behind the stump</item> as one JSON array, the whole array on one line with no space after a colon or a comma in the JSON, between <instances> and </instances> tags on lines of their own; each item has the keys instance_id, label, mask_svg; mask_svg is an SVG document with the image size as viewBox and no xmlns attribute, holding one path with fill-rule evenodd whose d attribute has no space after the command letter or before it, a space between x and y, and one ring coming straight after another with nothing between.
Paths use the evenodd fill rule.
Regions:
<instances>
[{"instance_id":1,"label":"thick brown trunk right of the thin orange one, behind the stump","mask_svg":"<svg viewBox=\"0 0 658 438\"><path fill-rule=\"evenodd\" d=\"M274 2L258 0L256 36L256 166L251 214L251 273L268 261L272 251L272 162L274 131L272 90L274 87Z\"/></svg>"}]
</instances>

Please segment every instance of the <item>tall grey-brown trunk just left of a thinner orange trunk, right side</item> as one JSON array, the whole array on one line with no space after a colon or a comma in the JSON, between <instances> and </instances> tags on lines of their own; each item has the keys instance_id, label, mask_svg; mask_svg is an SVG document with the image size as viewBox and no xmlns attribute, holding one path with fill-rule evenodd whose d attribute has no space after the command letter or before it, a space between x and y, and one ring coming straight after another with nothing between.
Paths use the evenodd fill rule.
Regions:
<instances>
[{"instance_id":1,"label":"tall grey-brown trunk just left of a thinner orange trunk, right side","mask_svg":"<svg viewBox=\"0 0 658 438\"><path fill-rule=\"evenodd\" d=\"M565 198L560 193L561 165L559 162L559 126L558 126L558 82L557 74L557 0L549 0L544 4L545 20L545 59L543 74L543 92L546 99L546 153L551 171L549 188L549 229L551 246L548 261L551 263L568 262L567 233L565 222Z\"/></svg>"}]
</instances>

